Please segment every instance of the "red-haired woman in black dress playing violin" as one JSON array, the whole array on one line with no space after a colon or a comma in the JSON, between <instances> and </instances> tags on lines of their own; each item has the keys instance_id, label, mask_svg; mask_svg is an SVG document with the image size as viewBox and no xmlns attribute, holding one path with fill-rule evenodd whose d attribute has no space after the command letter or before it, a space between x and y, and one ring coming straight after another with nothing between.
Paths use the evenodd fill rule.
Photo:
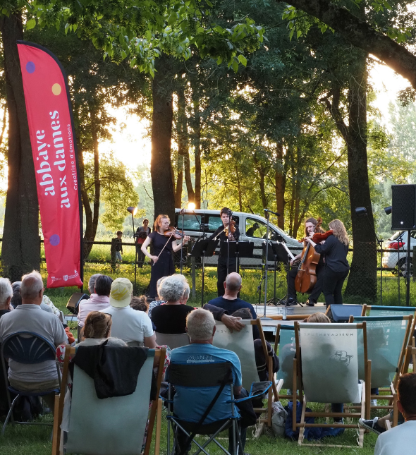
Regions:
<instances>
[{"instance_id":1,"label":"red-haired woman in black dress playing violin","mask_svg":"<svg viewBox=\"0 0 416 455\"><path fill-rule=\"evenodd\" d=\"M181 250L183 244L189 240L188 236L176 236L176 231L169 229L171 220L167 215L159 215L154 220L154 230L149 233L142 244L142 253L152 260L152 272L150 274L149 295L151 298L157 297L157 280L162 277L169 277L175 273L172 252ZM169 231L169 232L167 232ZM166 235L166 233L168 235ZM176 237L181 238L181 243L176 242ZM147 251L147 246L152 242L153 255Z\"/></svg>"}]
</instances>

